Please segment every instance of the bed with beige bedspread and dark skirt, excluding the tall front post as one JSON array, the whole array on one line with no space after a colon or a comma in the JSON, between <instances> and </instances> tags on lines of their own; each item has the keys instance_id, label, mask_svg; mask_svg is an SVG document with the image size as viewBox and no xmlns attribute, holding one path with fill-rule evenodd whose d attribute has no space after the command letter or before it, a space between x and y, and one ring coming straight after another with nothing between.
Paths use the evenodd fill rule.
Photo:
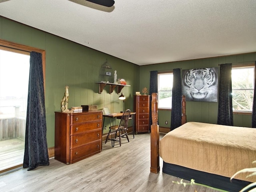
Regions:
<instances>
[{"instance_id":1,"label":"bed with beige bedspread and dark skirt, excluding the tall front post","mask_svg":"<svg viewBox=\"0 0 256 192\"><path fill-rule=\"evenodd\" d=\"M238 170L255 167L255 128L186 122L159 141L159 154L164 173L186 180L230 192L256 181L244 173L230 182Z\"/></svg>"}]
</instances>

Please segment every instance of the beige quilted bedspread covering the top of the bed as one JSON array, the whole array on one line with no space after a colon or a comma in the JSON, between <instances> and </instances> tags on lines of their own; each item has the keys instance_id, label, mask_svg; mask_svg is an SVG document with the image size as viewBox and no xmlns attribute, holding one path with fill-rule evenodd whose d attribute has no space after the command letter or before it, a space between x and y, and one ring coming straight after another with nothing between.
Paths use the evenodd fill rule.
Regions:
<instances>
[{"instance_id":1,"label":"beige quilted bedspread covering the top of the bed","mask_svg":"<svg viewBox=\"0 0 256 192\"><path fill-rule=\"evenodd\" d=\"M187 122L160 140L166 163L231 177L243 168L256 167L256 128ZM256 181L256 176L235 178Z\"/></svg>"}]
</instances>

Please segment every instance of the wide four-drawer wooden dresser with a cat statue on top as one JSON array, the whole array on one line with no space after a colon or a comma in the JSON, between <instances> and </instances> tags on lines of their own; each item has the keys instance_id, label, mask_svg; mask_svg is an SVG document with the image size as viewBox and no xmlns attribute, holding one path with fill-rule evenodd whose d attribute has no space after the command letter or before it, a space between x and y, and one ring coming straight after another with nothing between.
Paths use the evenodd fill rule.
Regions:
<instances>
[{"instance_id":1,"label":"wide four-drawer wooden dresser with a cat statue on top","mask_svg":"<svg viewBox=\"0 0 256 192\"><path fill-rule=\"evenodd\" d=\"M71 164L102 151L102 111L55 112L54 158Z\"/></svg>"}]
</instances>

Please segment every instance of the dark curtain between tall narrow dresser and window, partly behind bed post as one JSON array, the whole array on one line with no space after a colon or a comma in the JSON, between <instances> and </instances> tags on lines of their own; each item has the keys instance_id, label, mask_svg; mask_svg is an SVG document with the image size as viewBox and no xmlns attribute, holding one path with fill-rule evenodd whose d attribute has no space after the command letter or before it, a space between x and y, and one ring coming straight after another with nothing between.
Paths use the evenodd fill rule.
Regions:
<instances>
[{"instance_id":1,"label":"dark curtain between tall narrow dresser and window, partly behind bed post","mask_svg":"<svg viewBox=\"0 0 256 192\"><path fill-rule=\"evenodd\" d=\"M151 131L152 125L152 116L151 116L151 101L152 101L152 93L157 93L157 71L150 71L150 84L149 84L149 95L150 95L150 103L149 103L149 130Z\"/></svg>"}]
</instances>

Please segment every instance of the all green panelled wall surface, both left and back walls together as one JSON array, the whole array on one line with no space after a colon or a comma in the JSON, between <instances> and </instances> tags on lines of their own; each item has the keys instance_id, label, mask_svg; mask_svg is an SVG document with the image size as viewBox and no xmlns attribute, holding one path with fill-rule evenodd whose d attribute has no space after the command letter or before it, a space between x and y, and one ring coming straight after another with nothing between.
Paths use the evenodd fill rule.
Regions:
<instances>
[{"instance_id":1,"label":"all green panelled wall surface, both left and back walls together","mask_svg":"<svg viewBox=\"0 0 256 192\"><path fill-rule=\"evenodd\" d=\"M98 94L98 76L101 65L108 60L113 70L117 70L118 78L126 79L130 87L124 87L126 96L125 108L133 110L133 95L136 91L142 93L142 88L148 88L150 71L172 70L174 68L190 69L201 67L218 67L224 63L254 62L256 52L204 58L180 62L168 62L137 66L130 62L93 50L86 46L71 42L64 38L31 28L29 26L0 17L0 38L10 42L32 46L46 50L46 123L48 147L54 146L54 111L60 111L60 101L64 95L64 86L69 86L69 107L87 104L98 105L98 109L108 106L111 111L122 110L122 102L118 100L116 90L109 94L108 86L102 94ZM187 102L187 120L197 122L217 122L217 102ZM159 125L170 127L170 111L158 112ZM166 126L165 121L169 124ZM234 115L235 126L251 126L251 115ZM107 126L105 124L104 126ZM106 132L106 131L105 131Z\"/></svg>"}]
</instances>

